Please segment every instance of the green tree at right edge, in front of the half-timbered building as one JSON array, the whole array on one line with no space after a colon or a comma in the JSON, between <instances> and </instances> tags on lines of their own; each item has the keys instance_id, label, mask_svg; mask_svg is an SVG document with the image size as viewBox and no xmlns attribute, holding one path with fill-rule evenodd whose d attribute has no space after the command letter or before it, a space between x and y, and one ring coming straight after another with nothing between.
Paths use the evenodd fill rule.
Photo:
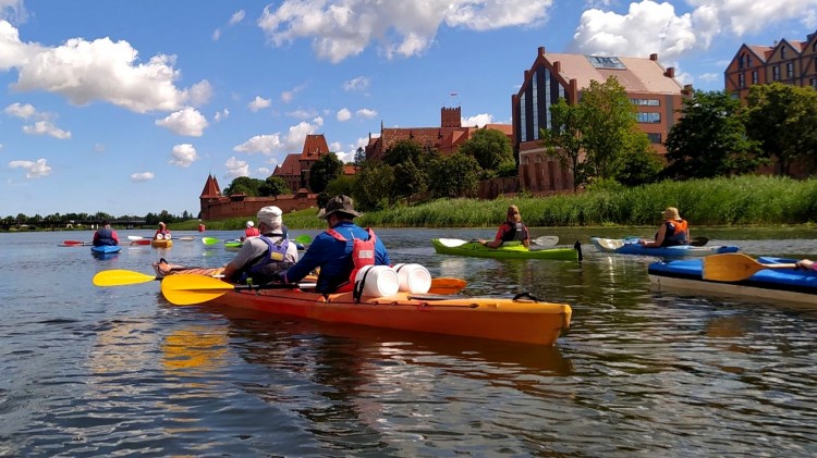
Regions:
<instances>
[{"instance_id":1,"label":"green tree at right edge, in front of the half-timbered building","mask_svg":"<svg viewBox=\"0 0 817 458\"><path fill-rule=\"evenodd\" d=\"M801 160L815 171L817 161L817 91L781 83L755 85L746 98L746 131L765 157L777 157L777 172L791 174Z\"/></svg>"}]
</instances>

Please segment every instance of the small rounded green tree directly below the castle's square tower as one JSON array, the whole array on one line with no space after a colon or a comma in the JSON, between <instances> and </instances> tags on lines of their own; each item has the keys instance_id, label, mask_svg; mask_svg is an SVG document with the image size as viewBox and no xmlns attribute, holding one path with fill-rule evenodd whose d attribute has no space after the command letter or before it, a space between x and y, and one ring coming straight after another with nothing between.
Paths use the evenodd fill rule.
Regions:
<instances>
[{"instance_id":1,"label":"small rounded green tree directly below the castle's square tower","mask_svg":"<svg viewBox=\"0 0 817 458\"><path fill-rule=\"evenodd\" d=\"M428 188L435 197L474 197L479 189L483 170L472 156L439 157L429 169Z\"/></svg>"}]
</instances>

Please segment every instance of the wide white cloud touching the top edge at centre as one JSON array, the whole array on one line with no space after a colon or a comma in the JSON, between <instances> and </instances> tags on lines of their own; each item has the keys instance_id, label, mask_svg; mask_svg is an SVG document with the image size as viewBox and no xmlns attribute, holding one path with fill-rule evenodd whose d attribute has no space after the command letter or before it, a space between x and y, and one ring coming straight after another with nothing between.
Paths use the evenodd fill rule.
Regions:
<instances>
[{"instance_id":1,"label":"wide white cloud touching the top edge at centre","mask_svg":"<svg viewBox=\"0 0 817 458\"><path fill-rule=\"evenodd\" d=\"M373 41L388 58L425 51L444 23L490 30L544 23L553 0L284 0L258 26L275 46L308 39L320 59L340 62Z\"/></svg>"}]
</instances>

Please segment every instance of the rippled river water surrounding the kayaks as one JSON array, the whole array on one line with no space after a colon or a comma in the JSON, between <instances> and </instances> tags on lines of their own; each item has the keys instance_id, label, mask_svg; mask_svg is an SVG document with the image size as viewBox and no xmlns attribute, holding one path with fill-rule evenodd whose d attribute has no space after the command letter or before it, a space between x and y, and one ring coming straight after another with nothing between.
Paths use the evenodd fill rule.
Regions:
<instances>
[{"instance_id":1,"label":"rippled river water surrounding the kayaks","mask_svg":"<svg viewBox=\"0 0 817 458\"><path fill-rule=\"evenodd\" d=\"M490 233L378 231L393 262L464 277L467 293L571 304L557 347L261 321L171 306L157 282L92 285L108 269L151 274L160 256L231 259L200 234L101 260L57 246L90 233L0 234L0 456L817 455L817 305L657 290L655 259L589 244L577 263L446 257L428 242ZM694 235L817 256L814 231Z\"/></svg>"}]
</instances>

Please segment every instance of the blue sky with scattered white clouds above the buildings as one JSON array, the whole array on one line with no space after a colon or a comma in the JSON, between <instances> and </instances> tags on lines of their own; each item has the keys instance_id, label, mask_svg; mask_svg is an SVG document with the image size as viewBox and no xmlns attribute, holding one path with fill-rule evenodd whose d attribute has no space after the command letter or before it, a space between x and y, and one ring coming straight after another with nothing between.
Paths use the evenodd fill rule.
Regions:
<instances>
[{"instance_id":1,"label":"blue sky with scattered white clouds above the buildings","mask_svg":"<svg viewBox=\"0 0 817 458\"><path fill-rule=\"evenodd\" d=\"M511 123L539 47L644 57L723 89L741 45L805 40L817 0L0 0L0 218L199 211L304 137Z\"/></svg>"}]
</instances>

